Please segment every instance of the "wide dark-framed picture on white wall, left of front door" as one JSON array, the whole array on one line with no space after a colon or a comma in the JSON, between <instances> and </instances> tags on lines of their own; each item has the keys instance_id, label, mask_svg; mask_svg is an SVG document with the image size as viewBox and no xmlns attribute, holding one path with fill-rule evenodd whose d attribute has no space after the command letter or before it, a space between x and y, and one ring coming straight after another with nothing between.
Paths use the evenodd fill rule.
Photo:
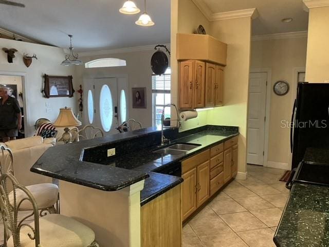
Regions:
<instances>
[{"instance_id":1,"label":"wide dark-framed picture on white wall, left of front door","mask_svg":"<svg viewBox=\"0 0 329 247\"><path fill-rule=\"evenodd\" d=\"M73 97L72 76L48 76L45 74L43 93L46 98Z\"/></svg>"}]
</instances>

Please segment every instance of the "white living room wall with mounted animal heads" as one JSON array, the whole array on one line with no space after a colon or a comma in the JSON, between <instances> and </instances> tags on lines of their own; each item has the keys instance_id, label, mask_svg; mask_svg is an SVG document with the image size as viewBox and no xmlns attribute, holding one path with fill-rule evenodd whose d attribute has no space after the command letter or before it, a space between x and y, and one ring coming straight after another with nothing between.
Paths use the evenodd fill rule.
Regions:
<instances>
[{"instance_id":1,"label":"white living room wall with mounted animal heads","mask_svg":"<svg viewBox=\"0 0 329 247\"><path fill-rule=\"evenodd\" d=\"M15 48L18 50L15 53L13 63L8 63L7 54L0 51L0 74L19 73L25 75L24 101L26 104L26 119L25 131L26 136L34 134L34 123L39 118L48 118L51 121L56 120L59 114L59 108L72 107L77 113L77 93L73 98L50 98L43 97L41 90L43 89L43 75L68 76L73 75L74 89L78 90L76 85L79 82L74 75L74 67L63 66L60 63L64 60L65 54L63 49L58 47L32 44L22 41L8 40L0 38L0 47L8 49ZM26 67L23 63L23 54L36 54L38 60L33 59L30 67ZM46 103L49 103L51 111L46 112Z\"/></svg>"}]
</instances>

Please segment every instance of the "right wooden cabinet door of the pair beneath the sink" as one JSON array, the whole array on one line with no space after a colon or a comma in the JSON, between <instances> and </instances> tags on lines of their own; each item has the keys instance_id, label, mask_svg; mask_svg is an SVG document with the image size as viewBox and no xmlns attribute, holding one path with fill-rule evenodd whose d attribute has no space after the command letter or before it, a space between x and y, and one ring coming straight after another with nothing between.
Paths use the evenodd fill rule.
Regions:
<instances>
[{"instance_id":1,"label":"right wooden cabinet door of the pair beneath the sink","mask_svg":"<svg viewBox=\"0 0 329 247\"><path fill-rule=\"evenodd\" d=\"M209 198L210 162L207 161L197 166L196 173L196 207L199 207Z\"/></svg>"}]
</instances>

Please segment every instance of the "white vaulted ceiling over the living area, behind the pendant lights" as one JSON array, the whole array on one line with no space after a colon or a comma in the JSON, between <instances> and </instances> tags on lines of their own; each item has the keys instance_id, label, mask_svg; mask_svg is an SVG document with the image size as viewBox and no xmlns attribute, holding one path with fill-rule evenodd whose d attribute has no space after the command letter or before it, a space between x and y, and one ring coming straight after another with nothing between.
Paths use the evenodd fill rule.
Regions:
<instances>
[{"instance_id":1,"label":"white vaulted ceiling over the living area, behind the pendant lights","mask_svg":"<svg viewBox=\"0 0 329 247\"><path fill-rule=\"evenodd\" d=\"M139 14L119 13L124 0L13 0L25 8L0 4L0 27L26 38L75 50L101 50L170 43L170 0L149 0L153 27L135 24ZM143 10L144 1L135 0Z\"/></svg>"}]
</instances>

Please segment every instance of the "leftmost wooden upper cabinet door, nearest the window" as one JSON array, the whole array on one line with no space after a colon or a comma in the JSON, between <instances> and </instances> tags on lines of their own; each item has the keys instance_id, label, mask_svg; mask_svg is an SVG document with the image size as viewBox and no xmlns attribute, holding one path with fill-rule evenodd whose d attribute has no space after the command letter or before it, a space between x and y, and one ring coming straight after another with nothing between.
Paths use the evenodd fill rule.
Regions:
<instances>
[{"instance_id":1,"label":"leftmost wooden upper cabinet door, nearest the window","mask_svg":"<svg viewBox=\"0 0 329 247\"><path fill-rule=\"evenodd\" d=\"M193 109L194 61L180 62L179 108Z\"/></svg>"}]
</instances>

